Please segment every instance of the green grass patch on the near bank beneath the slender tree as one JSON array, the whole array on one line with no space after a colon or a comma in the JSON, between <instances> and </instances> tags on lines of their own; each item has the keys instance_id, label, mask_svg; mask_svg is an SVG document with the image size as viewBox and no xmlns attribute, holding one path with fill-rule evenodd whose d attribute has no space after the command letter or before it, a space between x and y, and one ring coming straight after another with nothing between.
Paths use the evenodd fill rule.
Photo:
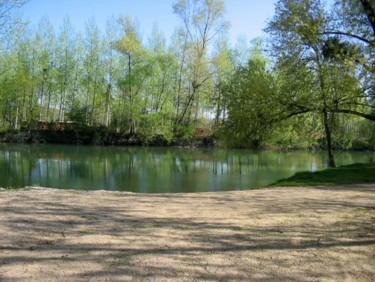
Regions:
<instances>
[{"instance_id":1,"label":"green grass patch on the near bank beneath the slender tree","mask_svg":"<svg viewBox=\"0 0 375 282\"><path fill-rule=\"evenodd\" d=\"M352 164L315 172L298 172L270 186L319 186L359 183L375 183L375 163Z\"/></svg>"}]
</instances>

